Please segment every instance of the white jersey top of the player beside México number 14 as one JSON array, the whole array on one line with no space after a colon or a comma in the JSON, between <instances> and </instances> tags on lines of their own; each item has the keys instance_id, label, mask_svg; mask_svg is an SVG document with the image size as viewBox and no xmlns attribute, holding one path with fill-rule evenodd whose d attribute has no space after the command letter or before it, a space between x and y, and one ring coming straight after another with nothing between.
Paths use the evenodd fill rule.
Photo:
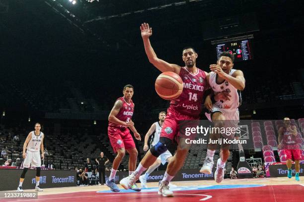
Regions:
<instances>
[{"instance_id":1,"label":"white jersey top of the player beside M\u00e9xico number 14","mask_svg":"<svg viewBox=\"0 0 304 202\"><path fill-rule=\"evenodd\" d=\"M229 75L231 76L233 72L235 72L236 69L231 69ZM229 93L231 97L229 97L230 101L217 101L214 103L214 105L218 108L229 110L229 111L235 111L239 106L239 98L237 89L234 88L228 81L224 80L222 83L217 83L217 77L218 74L214 72L210 72L209 76L209 85L210 88L214 91L214 94L217 95L218 93L221 93L223 91L226 91Z\"/></svg>"}]
</instances>

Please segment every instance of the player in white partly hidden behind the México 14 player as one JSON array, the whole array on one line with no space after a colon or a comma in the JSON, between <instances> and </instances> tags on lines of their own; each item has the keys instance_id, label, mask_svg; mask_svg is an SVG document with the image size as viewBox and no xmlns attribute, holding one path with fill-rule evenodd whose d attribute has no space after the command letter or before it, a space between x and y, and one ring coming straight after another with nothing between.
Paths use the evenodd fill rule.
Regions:
<instances>
[{"instance_id":1,"label":"player in white partly hidden behind the M\u00e9xico 14 player","mask_svg":"<svg viewBox=\"0 0 304 202\"><path fill-rule=\"evenodd\" d=\"M161 131L163 122L166 118L166 112L165 111L159 112L158 118L159 118L159 121L152 124L152 126L150 127L149 131L147 132L147 134L145 136L145 145L144 145L145 152L147 152L149 150L148 140L154 131L155 131L155 133L154 133L154 137L151 140L151 147L153 147L154 145L156 145L156 143L158 143L160 131ZM157 157L156 161L148 168L145 175L140 176L139 180L141 181L142 188L148 188L147 179L148 179L149 175L160 165L160 163L162 163L164 165L166 162L169 162L171 159L172 159L172 154L168 150L166 152L160 154Z\"/></svg>"}]
</instances>

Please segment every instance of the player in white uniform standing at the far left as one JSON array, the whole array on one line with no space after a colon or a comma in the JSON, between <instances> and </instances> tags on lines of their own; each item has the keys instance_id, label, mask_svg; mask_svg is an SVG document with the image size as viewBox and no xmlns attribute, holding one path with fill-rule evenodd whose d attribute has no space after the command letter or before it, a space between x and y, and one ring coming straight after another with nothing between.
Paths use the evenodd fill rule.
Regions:
<instances>
[{"instance_id":1,"label":"player in white uniform standing at the far left","mask_svg":"<svg viewBox=\"0 0 304 202\"><path fill-rule=\"evenodd\" d=\"M32 131L28 134L24 144L23 144L23 152L22 156L23 160L23 172L20 177L19 186L17 188L17 192L23 192L22 183L25 178L25 173L27 172L30 166L36 167L36 191L43 191L39 187L40 181L40 166L41 166L41 158L44 158L44 151L43 151L43 139L44 134L40 131L41 126L40 123L35 124L35 131ZM26 152L25 152L26 151ZM40 157L41 151L41 157Z\"/></svg>"}]
</instances>

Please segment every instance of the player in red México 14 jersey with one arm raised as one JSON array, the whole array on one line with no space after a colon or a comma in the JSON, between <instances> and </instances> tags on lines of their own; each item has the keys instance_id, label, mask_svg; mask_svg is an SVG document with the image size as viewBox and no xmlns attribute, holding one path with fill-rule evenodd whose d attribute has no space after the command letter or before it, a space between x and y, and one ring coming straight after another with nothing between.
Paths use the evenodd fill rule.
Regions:
<instances>
[{"instance_id":1,"label":"player in red M\u00e9xico 14 jersey with one arm raised","mask_svg":"<svg viewBox=\"0 0 304 202\"><path fill-rule=\"evenodd\" d=\"M159 142L146 153L135 173L122 179L120 185L125 189L129 189L140 175L155 162L157 157L167 151L172 141L176 140L179 141L177 151L167 166L164 177L159 183L158 191L158 194L163 197L172 197L173 192L168 189L168 184L183 165L190 147L189 144L185 144L183 138L180 138L183 134L179 132L181 126L179 121L199 119L203 96L208 88L206 82L207 72L196 67L198 54L193 48L185 48L182 51L182 59L185 63L184 67L159 59L152 49L149 40L149 37L152 35L152 28L149 27L148 23L144 23L140 29L149 61L161 72L171 71L178 74L183 81L183 91L177 99L170 102L166 119L160 132Z\"/></svg>"}]
</instances>

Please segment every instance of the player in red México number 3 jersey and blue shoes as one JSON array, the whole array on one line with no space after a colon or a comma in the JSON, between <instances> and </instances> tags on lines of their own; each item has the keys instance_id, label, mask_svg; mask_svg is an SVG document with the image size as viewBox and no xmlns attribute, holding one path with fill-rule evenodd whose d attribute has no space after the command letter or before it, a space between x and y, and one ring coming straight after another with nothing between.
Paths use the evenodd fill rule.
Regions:
<instances>
[{"instance_id":1,"label":"player in red M\u00e9xico number 3 jersey and blue shoes","mask_svg":"<svg viewBox=\"0 0 304 202\"><path fill-rule=\"evenodd\" d=\"M126 85L123 90L124 96L117 99L109 115L108 136L111 142L113 151L117 155L113 161L110 177L106 181L106 185L111 191L119 192L118 186L115 184L115 174L121 160L127 151L129 157L129 174L132 174L136 168L136 160L138 152L135 147L134 140L128 128L134 133L136 140L141 140L141 135L137 132L132 121L134 112L134 103L131 100L134 94L134 87ZM140 191L136 184L133 184L131 189Z\"/></svg>"}]
</instances>

